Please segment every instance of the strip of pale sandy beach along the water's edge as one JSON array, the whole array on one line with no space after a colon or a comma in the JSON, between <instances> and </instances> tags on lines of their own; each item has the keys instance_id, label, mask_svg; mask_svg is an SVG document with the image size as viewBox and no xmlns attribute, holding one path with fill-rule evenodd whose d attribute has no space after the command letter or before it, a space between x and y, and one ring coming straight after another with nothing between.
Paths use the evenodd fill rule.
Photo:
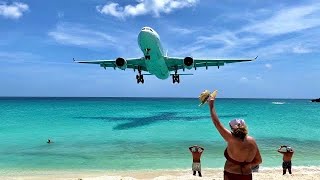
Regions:
<instances>
[{"instance_id":1,"label":"strip of pale sandy beach along the water's edge","mask_svg":"<svg viewBox=\"0 0 320 180\"><path fill-rule=\"evenodd\" d=\"M222 180L222 169L204 169L203 177L195 177L190 170L143 170L143 171L0 171L4 180ZM253 174L253 179L262 180L317 180L320 179L320 167L294 167L293 175L282 175L279 168L261 168Z\"/></svg>"}]
</instances>

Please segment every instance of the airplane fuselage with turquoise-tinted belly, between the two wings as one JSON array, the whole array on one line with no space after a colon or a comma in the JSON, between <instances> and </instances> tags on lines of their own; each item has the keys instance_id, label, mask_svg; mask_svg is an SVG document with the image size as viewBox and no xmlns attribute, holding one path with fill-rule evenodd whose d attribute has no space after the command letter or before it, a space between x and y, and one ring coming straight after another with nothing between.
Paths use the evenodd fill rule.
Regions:
<instances>
[{"instance_id":1,"label":"airplane fuselage with turquoise-tinted belly, between the two wings","mask_svg":"<svg viewBox=\"0 0 320 180\"><path fill-rule=\"evenodd\" d=\"M138 44L145 56L146 68L149 73L159 79L167 79L170 71L165 62L158 33L150 27L143 27L138 36Z\"/></svg>"}]
</instances>

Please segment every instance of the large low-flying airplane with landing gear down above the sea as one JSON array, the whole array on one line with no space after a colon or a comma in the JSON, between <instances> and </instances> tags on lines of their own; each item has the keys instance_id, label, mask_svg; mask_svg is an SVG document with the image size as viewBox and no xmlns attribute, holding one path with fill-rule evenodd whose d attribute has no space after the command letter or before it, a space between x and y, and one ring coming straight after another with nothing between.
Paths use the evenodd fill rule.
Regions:
<instances>
[{"instance_id":1,"label":"large low-flying airplane with landing gear down above the sea","mask_svg":"<svg viewBox=\"0 0 320 180\"><path fill-rule=\"evenodd\" d=\"M253 61L253 59L196 59L191 56L186 57L169 57L164 53L162 45L160 43L160 36L158 33L150 28L143 27L138 35L138 44L143 52L143 57L140 58L128 58L118 57L115 60L75 60L76 63L86 64L99 64L101 67L112 67L114 69L133 69L135 72L138 70L136 75L137 83L144 83L143 75L155 75L158 79L167 79L170 75L172 76L173 83L180 83L180 75L193 75L193 74L181 74L178 70L192 69L195 70L198 67L209 66L223 66L228 63L236 63L243 61ZM142 71L149 72L150 74L142 74ZM174 73L171 73L174 72Z\"/></svg>"}]
</instances>

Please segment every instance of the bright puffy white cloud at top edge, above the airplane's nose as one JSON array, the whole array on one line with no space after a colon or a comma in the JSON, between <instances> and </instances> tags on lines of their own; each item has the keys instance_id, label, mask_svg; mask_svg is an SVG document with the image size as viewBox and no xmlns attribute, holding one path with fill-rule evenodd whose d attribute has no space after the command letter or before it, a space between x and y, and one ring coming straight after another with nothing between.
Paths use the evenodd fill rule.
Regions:
<instances>
[{"instance_id":1,"label":"bright puffy white cloud at top edge, above the airplane's nose","mask_svg":"<svg viewBox=\"0 0 320 180\"><path fill-rule=\"evenodd\" d=\"M101 14L111 15L118 18L128 16L140 16L153 14L159 17L161 13L170 13L175 9L195 6L199 0L139 0L136 5L126 5L121 7L118 3L108 3L104 6L97 6L96 9Z\"/></svg>"}]
</instances>

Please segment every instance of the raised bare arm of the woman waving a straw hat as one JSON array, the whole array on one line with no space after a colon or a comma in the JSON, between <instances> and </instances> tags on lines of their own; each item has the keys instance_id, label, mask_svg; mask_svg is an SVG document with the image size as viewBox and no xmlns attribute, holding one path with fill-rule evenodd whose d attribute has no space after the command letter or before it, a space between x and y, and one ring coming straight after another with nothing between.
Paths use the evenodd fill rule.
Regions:
<instances>
[{"instance_id":1,"label":"raised bare arm of the woman waving a straw hat","mask_svg":"<svg viewBox=\"0 0 320 180\"><path fill-rule=\"evenodd\" d=\"M214 108L214 101L215 101L215 97L210 97L208 100L212 122L214 126L217 128L217 130L219 131L219 133L221 134L221 136L223 137L223 139L229 142L232 139L232 134L219 121L218 115Z\"/></svg>"}]
</instances>

